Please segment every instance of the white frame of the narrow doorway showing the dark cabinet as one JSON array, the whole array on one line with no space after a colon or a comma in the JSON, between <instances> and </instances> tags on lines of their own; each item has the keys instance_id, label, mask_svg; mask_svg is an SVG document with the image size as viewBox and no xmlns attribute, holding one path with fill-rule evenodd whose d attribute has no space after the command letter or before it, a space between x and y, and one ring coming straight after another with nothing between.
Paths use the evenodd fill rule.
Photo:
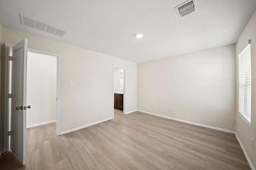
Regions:
<instances>
[{"instance_id":1,"label":"white frame of the narrow doorway showing the dark cabinet","mask_svg":"<svg viewBox=\"0 0 256 170\"><path fill-rule=\"evenodd\" d=\"M123 98L123 113L126 114L126 68L122 66L113 65L113 118L114 118L114 92L115 92L115 68L124 69L124 98Z\"/></svg>"}]
</instances>

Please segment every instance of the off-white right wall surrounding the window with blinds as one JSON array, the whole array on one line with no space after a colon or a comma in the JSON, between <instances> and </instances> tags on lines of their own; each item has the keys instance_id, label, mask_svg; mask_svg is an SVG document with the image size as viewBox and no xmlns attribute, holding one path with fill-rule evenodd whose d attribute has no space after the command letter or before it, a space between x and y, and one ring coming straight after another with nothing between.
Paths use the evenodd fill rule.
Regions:
<instances>
[{"instance_id":1,"label":"off-white right wall surrounding the window with blinds","mask_svg":"<svg viewBox=\"0 0 256 170\"><path fill-rule=\"evenodd\" d=\"M244 27L237 43L236 52L240 51L251 39L251 62L252 62L252 106L250 126L238 115L238 102L236 102L236 133L244 146L254 168L256 168L256 10ZM238 79L238 74L237 74ZM236 89L238 92L238 89ZM238 95L237 95L238 99ZM238 100L237 100L238 101ZM251 147L251 138L254 139L254 148Z\"/></svg>"}]
</instances>

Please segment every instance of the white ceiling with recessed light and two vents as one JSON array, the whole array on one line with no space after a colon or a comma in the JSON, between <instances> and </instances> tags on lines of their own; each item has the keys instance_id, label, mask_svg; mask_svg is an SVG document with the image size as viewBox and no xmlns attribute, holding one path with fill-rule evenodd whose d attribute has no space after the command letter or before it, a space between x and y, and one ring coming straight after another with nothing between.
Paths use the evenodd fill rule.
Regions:
<instances>
[{"instance_id":1,"label":"white ceiling with recessed light and two vents","mask_svg":"<svg viewBox=\"0 0 256 170\"><path fill-rule=\"evenodd\" d=\"M236 43L256 8L256 0L196 0L198 12L179 19L174 7L185 1L0 0L0 23L142 63ZM67 32L59 37L22 25L20 14Z\"/></svg>"}]
</instances>

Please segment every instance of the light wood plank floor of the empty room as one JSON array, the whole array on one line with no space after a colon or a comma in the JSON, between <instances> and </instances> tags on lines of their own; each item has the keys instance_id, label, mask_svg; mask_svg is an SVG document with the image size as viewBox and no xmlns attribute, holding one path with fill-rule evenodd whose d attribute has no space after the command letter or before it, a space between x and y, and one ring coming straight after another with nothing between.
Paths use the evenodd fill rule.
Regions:
<instances>
[{"instance_id":1,"label":"light wood plank floor of the empty room","mask_svg":"<svg viewBox=\"0 0 256 170\"><path fill-rule=\"evenodd\" d=\"M247 170L234 134L115 109L112 120L56 137L55 123L27 129L27 164L12 152L0 169Z\"/></svg>"}]
</instances>

